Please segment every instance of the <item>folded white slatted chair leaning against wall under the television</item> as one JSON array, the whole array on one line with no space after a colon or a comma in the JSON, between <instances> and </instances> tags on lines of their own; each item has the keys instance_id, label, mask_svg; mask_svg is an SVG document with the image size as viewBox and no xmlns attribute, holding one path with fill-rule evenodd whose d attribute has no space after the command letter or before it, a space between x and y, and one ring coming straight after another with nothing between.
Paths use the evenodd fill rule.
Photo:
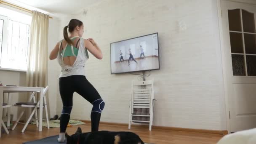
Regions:
<instances>
[{"instance_id":1,"label":"folded white slatted chair leaning against wall under the television","mask_svg":"<svg viewBox=\"0 0 256 144\"><path fill-rule=\"evenodd\" d=\"M134 123L149 123L149 131L153 124L153 105L154 105L154 87L153 80L132 81L131 100L129 113L129 126L131 129L132 122ZM148 115L136 115L134 108L147 109ZM149 117L149 120L133 120L133 117Z\"/></svg>"}]
</instances>

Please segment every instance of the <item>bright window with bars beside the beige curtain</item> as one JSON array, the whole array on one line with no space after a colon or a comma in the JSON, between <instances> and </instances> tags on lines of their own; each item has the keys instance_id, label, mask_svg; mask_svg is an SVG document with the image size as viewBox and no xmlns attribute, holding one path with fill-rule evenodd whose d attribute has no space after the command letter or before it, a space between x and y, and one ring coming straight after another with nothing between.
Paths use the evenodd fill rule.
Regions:
<instances>
[{"instance_id":1,"label":"bright window with bars beside the beige curtain","mask_svg":"<svg viewBox=\"0 0 256 144\"><path fill-rule=\"evenodd\" d=\"M31 16L0 8L0 67L27 69Z\"/></svg>"}]
</instances>

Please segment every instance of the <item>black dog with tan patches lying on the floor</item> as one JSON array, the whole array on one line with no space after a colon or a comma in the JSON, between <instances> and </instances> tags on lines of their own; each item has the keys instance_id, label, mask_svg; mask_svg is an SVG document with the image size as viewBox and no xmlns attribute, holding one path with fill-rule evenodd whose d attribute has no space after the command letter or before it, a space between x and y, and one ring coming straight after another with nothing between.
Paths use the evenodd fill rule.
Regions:
<instances>
[{"instance_id":1,"label":"black dog with tan patches lying on the floor","mask_svg":"<svg viewBox=\"0 0 256 144\"><path fill-rule=\"evenodd\" d=\"M144 144L139 136L132 132L97 131L82 133L80 127L71 136L66 133L67 144Z\"/></svg>"}]
</instances>

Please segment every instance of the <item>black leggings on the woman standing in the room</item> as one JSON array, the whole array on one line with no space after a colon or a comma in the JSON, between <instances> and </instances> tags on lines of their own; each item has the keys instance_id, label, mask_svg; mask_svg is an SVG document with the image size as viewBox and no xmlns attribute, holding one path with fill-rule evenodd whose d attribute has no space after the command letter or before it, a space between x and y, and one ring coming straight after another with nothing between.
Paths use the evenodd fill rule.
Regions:
<instances>
[{"instance_id":1,"label":"black leggings on the woman standing in the room","mask_svg":"<svg viewBox=\"0 0 256 144\"><path fill-rule=\"evenodd\" d=\"M101 99L98 91L83 75L72 75L59 78L59 91L63 104L63 110L60 118L60 132L66 132L67 125L70 119L70 112L73 106L73 93L77 92L91 104ZM103 108L102 108L103 109ZM91 112L91 128L92 131L99 130L99 121L101 113Z\"/></svg>"}]
</instances>

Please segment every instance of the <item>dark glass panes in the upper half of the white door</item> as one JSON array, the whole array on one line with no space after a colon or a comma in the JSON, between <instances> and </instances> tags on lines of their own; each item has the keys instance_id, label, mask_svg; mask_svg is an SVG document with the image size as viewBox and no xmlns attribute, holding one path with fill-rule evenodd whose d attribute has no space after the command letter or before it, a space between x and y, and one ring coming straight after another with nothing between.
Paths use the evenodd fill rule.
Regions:
<instances>
[{"instance_id":1,"label":"dark glass panes in the upper half of the white door","mask_svg":"<svg viewBox=\"0 0 256 144\"><path fill-rule=\"evenodd\" d=\"M243 9L228 11L234 76L256 76L255 14Z\"/></svg>"}]
</instances>

